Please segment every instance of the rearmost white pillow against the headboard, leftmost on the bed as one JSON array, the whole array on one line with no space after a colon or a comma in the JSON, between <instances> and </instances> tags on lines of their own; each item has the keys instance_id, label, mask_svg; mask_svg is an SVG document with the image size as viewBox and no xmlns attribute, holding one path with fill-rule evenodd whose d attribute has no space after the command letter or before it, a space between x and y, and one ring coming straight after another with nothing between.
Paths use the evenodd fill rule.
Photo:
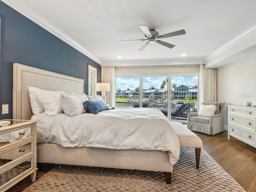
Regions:
<instances>
[{"instance_id":1,"label":"rearmost white pillow against the headboard, leftmost on the bed","mask_svg":"<svg viewBox=\"0 0 256 192\"><path fill-rule=\"evenodd\" d=\"M38 113L44 112L44 107L42 106L42 104L40 103L40 101L38 100L38 97L36 95L42 91L55 92L58 94L65 94L64 91L49 91L49 90L42 90L42 89L36 88L36 87L28 87L28 92L29 92L28 95L30 98L30 105L31 105L33 114L38 114Z\"/></svg>"}]
</instances>

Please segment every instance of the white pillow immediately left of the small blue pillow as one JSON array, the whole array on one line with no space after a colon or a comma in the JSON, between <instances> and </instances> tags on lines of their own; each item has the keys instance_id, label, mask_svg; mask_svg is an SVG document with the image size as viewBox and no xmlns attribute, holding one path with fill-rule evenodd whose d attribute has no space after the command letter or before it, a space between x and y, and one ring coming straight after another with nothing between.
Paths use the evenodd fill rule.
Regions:
<instances>
[{"instance_id":1,"label":"white pillow immediately left of the small blue pillow","mask_svg":"<svg viewBox=\"0 0 256 192\"><path fill-rule=\"evenodd\" d=\"M60 96L60 104L64 113L71 117L86 112L86 110L84 110L84 101L88 101L84 93L78 95L62 94Z\"/></svg>"}]
</instances>

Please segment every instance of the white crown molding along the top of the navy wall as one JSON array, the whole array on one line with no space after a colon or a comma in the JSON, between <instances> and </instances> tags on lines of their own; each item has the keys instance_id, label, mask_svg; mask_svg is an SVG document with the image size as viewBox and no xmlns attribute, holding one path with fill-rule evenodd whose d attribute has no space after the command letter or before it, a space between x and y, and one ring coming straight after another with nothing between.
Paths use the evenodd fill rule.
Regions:
<instances>
[{"instance_id":1,"label":"white crown molding along the top of the navy wall","mask_svg":"<svg viewBox=\"0 0 256 192\"><path fill-rule=\"evenodd\" d=\"M38 13L34 12L31 8L25 5L22 1L11 1L11 0L1 0L20 14L24 15L26 18L32 20L54 36L58 37L60 40L66 42L68 45L72 46L88 58L94 60L98 64L101 64L101 60L92 55L88 50L70 38L67 34L62 32L60 29L56 28L53 24L51 24L48 20L45 20Z\"/></svg>"}]
</instances>

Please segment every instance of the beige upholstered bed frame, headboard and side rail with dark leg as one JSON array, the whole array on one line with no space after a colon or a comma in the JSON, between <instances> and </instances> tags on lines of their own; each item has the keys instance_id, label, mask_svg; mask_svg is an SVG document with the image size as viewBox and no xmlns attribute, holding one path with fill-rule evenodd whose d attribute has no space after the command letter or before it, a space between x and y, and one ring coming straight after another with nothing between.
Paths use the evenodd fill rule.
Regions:
<instances>
[{"instance_id":1,"label":"beige upholstered bed frame, headboard and side rail with dark leg","mask_svg":"<svg viewBox=\"0 0 256 192\"><path fill-rule=\"evenodd\" d=\"M86 71L84 72L86 74ZM84 80L54 72L13 64L13 119L30 120L33 115L28 87L44 90L62 90L81 94ZM58 144L37 144L37 161L55 164L96 166L132 170L164 172L167 184L171 184L173 166L168 152L144 150L115 150L92 147L62 147Z\"/></svg>"}]
</instances>

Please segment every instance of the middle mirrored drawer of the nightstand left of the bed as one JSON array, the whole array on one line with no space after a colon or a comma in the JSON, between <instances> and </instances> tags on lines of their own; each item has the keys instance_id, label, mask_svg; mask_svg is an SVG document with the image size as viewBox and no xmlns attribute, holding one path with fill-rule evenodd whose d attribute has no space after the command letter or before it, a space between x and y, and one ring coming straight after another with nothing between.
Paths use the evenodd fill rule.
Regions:
<instances>
[{"instance_id":1,"label":"middle mirrored drawer of the nightstand left of the bed","mask_svg":"<svg viewBox=\"0 0 256 192\"><path fill-rule=\"evenodd\" d=\"M14 148L0 154L0 160L15 160L19 157L22 157L28 153L32 152L32 141ZM2 166L2 162L0 162Z\"/></svg>"}]
</instances>

